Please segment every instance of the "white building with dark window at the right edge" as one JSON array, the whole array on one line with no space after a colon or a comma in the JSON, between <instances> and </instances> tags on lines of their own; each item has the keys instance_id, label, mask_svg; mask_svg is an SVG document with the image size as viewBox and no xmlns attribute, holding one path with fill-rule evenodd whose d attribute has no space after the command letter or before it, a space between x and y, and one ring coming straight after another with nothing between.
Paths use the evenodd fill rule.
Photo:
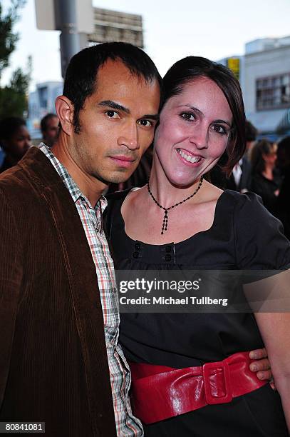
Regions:
<instances>
[{"instance_id":1,"label":"white building with dark window at the right edge","mask_svg":"<svg viewBox=\"0 0 290 437\"><path fill-rule=\"evenodd\" d=\"M261 134L290 134L290 36L246 44L242 88L247 119Z\"/></svg>"}]
</instances>

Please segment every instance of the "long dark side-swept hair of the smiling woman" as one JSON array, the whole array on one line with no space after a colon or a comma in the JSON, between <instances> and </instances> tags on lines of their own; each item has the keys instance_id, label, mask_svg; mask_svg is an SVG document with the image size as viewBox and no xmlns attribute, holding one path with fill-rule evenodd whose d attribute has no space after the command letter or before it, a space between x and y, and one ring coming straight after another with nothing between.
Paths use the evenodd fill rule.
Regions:
<instances>
[{"instance_id":1,"label":"long dark side-swept hair of the smiling woman","mask_svg":"<svg viewBox=\"0 0 290 437\"><path fill-rule=\"evenodd\" d=\"M209 59L199 56L187 56L173 64L165 74L163 78L162 106L170 97L180 94L186 84L200 77L211 79L219 86L232 111L233 122L227 144L227 161L223 164L224 171L230 174L234 165L244 155L246 147L246 119L242 91L239 81L232 71L222 64L209 61Z\"/></svg>"}]
</instances>

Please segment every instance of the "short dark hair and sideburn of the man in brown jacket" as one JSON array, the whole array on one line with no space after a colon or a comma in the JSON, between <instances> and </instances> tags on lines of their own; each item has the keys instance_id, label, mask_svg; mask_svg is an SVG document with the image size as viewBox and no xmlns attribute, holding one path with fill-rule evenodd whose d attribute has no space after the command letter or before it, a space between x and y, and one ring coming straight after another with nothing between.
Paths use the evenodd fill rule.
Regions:
<instances>
[{"instance_id":1,"label":"short dark hair and sideburn of the man in brown jacket","mask_svg":"<svg viewBox=\"0 0 290 437\"><path fill-rule=\"evenodd\" d=\"M143 77L147 82L157 80L161 90L162 79L152 59L145 51L132 44L111 42L79 51L68 64L63 85L63 96L68 97L73 104L73 126L76 134L81 130L79 112L98 86L98 69L108 59L122 61L131 74Z\"/></svg>"}]
</instances>

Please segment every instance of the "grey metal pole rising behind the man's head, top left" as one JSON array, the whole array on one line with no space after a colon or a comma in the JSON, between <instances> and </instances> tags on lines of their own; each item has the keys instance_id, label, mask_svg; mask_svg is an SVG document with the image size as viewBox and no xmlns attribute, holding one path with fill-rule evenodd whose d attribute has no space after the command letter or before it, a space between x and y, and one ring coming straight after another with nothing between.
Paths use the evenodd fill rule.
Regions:
<instances>
[{"instance_id":1,"label":"grey metal pole rising behind the man's head, top left","mask_svg":"<svg viewBox=\"0 0 290 437\"><path fill-rule=\"evenodd\" d=\"M69 61L80 51L80 37L77 28L76 0L58 0L59 29L61 30L61 76L66 75Z\"/></svg>"}]
</instances>

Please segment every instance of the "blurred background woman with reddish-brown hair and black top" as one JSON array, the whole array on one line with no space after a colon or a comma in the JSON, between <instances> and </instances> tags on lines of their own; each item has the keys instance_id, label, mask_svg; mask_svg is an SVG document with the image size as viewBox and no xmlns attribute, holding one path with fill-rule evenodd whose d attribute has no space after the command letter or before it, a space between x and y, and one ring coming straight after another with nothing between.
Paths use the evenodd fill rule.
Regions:
<instances>
[{"instance_id":1,"label":"blurred background woman with reddish-brown hair and black top","mask_svg":"<svg viewBox=\"0 0 290 437\"><path fill-rule=\"evenodd\" d=\"M266 139L258 141L251 152L252 185L251 190L259 194L264 206L275 213L281 177L276 169L277 145Z\"/></svg>"}]
</instances>

